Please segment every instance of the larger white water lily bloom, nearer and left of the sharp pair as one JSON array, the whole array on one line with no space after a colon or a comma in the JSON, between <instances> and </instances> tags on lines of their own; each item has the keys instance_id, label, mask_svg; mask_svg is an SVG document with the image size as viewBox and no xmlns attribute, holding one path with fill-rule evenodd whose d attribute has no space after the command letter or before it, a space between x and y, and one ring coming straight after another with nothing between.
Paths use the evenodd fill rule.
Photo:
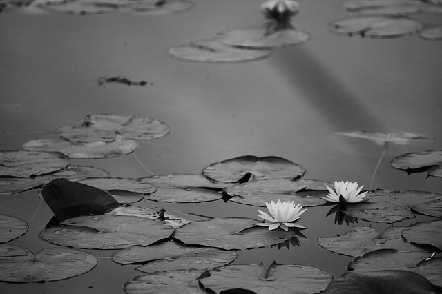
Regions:
<instances>
[{"instance_id":1,"label":"larger white water lily bloom, nearer and left of the sharp pair","mask_svg":"<svg viewBox=\"0 0 442 294\"><path fill-rule=\"evenodd\" d=\"M293 201L281 202L278 200L276 203L273 201L271 203L265 202L265 206L267 206L272 217L267 213L258 210L260 213L258 217L264 219L265 222L255 224L256 226L269 226L269 231L274 230L279 226L285 231L289 231L289 227L305 228L305 226L292 223L300 219L300 215L307 210L301 210L302 206L300 206L300 204L295 206Z\"/></svg>"}]
</instances>

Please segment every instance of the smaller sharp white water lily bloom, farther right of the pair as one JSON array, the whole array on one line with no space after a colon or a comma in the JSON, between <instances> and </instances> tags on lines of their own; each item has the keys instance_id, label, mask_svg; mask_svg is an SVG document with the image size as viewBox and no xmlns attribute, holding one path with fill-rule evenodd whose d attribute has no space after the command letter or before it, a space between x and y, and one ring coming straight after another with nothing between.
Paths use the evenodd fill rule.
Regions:
<instances>
[{"instance_id":1,"label":"smaller sharp white water lily bloom, farther right of the pair","mask_svg":"<svg viewBox=\"0 0 442 294\"><path fill-rule=\"evenodd\" d=\"M364 185L363 185L364 186ZM334 188L336 192L326 186L330 193L327 194L327 197L321 197L322 199L328 202L341 202L341 203L357 203L364 202L368 199L365 198L367 196L367 192L363 192L360 194L363 186L358 188L358 182L345 182L344 181L334 181Z\"/></svg>"}]
</instances>

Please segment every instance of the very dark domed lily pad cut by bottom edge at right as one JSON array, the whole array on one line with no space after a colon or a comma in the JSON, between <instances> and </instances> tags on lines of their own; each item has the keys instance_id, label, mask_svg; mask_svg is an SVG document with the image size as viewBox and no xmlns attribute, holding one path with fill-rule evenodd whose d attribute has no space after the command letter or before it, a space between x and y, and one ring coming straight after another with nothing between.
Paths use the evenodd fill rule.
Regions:
<instances>
[{"instance_id":1,"label":"very dark domed lily pad cut by bottom edge at right","mask_svg":"<svg viewBox=\"0 0 442 294\"><path fill-rule=\"evenodd\" d=\"M323 294L379 294L380 289L389 294L436 293L431 282L410 271L349 272L332 280ZM385 293L385 292L384 292Z\"/></svg>"}]
</instances>

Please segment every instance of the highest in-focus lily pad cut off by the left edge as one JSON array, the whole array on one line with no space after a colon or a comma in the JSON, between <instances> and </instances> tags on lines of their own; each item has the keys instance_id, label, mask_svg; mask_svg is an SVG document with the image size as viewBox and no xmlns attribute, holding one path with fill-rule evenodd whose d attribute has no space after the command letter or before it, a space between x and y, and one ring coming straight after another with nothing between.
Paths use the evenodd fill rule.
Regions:
<instances>
[{"instance_id":1,"label":"highest in-focus lily pad cut off by the left edge","mask_svg":"<svg viewBox=\"0 0 442 294\"><path fill-rule=\"evenodd\" d=\"M69 164L69 158L58 152L0 151L0 177L44 175L62 170Z\"/></svg>"}]
</instances>

